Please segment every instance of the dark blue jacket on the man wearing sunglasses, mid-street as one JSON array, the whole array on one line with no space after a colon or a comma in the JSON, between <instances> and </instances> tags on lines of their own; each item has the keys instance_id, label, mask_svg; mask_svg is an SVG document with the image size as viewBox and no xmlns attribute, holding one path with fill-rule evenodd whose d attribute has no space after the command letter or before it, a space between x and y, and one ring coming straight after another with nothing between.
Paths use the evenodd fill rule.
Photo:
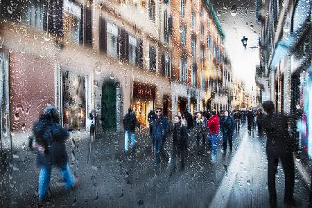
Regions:
<instances>
[{"instance_id":1,"label":"dark blue jacket on the man wearing sunglasses, mid-street","mask_svg":"<svg viewBox=\"0 0 312 208\"><path fill-rule=\"evenodd\" d=\"M162 116L160 119L157 117L153 122L152 136L155 140L165 140L169 132L169 124L166 117Z\"/></svg>"}]
</instances>

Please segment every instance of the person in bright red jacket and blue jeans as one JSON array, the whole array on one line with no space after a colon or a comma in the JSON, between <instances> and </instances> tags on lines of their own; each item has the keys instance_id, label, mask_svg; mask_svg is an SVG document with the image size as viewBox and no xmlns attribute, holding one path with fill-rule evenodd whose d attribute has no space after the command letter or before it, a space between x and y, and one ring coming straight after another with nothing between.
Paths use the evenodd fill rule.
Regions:
<instances>
[{"instance_id":1,"label":"person in bright red jacket and blue jeans","mask_svg":"<svg viewBox=\"0 0 312 208\"><path fill-rule=\"evenodd\" d=\"M211 112L211 117L208 120L208 128L209 128L209 137L211 140L212 145L212 153L211 153L211 159L212 161L216 162L216 153L218 149L218 133L219 133L219 118L218 115L216 115L216 111Z\"/></svg>"}]
</instances>

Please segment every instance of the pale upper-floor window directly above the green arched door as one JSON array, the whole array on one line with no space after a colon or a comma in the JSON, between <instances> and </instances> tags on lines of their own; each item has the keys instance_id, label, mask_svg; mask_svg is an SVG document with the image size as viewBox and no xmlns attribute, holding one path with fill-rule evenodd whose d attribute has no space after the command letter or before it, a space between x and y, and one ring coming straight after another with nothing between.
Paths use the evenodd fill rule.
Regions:
<instances>
[{"instance_id":1,"label":"pale upper-floor window directly above the green arched door","mask_svg":"<svg viewBox=\"0 0 312 208\"><path fill-rule=\"evenodd\" d=\"M112 57L117 57L117 37L117 26L107 21L107 55Z\"/></svg>"}]
</instances>

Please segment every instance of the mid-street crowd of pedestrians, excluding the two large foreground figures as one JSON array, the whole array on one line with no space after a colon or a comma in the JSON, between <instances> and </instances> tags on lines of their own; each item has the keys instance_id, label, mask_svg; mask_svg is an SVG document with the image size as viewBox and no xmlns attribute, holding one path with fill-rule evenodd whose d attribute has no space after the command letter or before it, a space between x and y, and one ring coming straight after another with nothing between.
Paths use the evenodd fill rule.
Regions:
<instances>
[{"instance_id":1,"label":"mid-street crowd of pedestrians, excluding the two large foreground figures","mask_svg":"<svg viewBox=\"0 0 312 208\"><path fill-rule=\"evenodd\" d=\"M205 146L211 148L211 160L216 162L216 153L218 150L218 138L223 138L221 153L225 154L227 146L229 151L233 150L233 134L239 133L241 124L247 121L248 131L252 131L258 126L258 133L261 135L262 124L261 109L250 109L249 111L195 111L193 115L189 111L180 112L173 117L171 122L163 114L162 108L156 108L155 111L148 113L148 124L150 133L150 145L155 153L155 167L159 167L161 161L168 162L172 159L173 172L176 169L176 161L181 160L180 169L184 169L185 158L190 146L196 146L198 154L205 149ZM131 135L130 146L135 147L135 126L137 119L132 108L128 109L127 115L123 119L125 130L124 153L127 154L129 149L128 138ZM194 135L195 144L190 144L189 138ZM172 155L164 150L164 144L172 136ZM209 145L206 145L209 144ZM161 158L163 160L161 160Z\"/></svg>"}]
</instances>

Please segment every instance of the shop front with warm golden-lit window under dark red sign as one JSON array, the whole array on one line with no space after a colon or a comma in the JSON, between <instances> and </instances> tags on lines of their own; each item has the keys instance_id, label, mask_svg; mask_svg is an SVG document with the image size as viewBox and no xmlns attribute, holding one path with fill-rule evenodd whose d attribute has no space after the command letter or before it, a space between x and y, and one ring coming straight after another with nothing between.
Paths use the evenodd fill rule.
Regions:
<instances>
[{"instance_id":1,"label":"shop front with warm golden-lit window under dark red sign","mask_svg":"<svg viewBox=\"0 0 312 208\"><path fill-rule=\"evenodd\" d=\"M142 126L146 126L148 113L155 110L156 86L134 82L132 96L132 106L137 121Z\"/></svg>"}]
</instances>

